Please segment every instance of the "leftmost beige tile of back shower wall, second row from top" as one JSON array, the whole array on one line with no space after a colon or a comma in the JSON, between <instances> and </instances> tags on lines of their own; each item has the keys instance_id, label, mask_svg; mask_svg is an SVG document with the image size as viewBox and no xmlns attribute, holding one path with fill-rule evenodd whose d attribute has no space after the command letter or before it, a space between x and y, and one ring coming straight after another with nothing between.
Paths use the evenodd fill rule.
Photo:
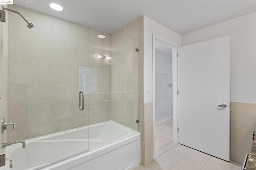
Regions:
<instances>
[{"instance_id":1,"label":"leftmost beige tile of back shower wall, second row from top","mask_svg":"<svg viewBox=\"0 0 256 170\"><path fill-rule=\"evenodd\" d=\"M26 62L27 42L9 38L8 43L8 60Z\"/></svg>"}]
</instances>

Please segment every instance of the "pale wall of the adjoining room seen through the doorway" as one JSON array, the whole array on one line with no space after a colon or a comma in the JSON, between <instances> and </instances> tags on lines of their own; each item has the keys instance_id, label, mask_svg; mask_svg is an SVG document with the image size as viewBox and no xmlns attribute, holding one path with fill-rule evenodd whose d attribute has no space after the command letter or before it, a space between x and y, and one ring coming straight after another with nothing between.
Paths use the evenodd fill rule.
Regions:
<instances>
[{"instance_id":1,"label":"pale wall of the adjoining room seen through the doorway","mask_svg":"<svg viewBox=\"0 0 256 170\"><path fill-rule=\"evenodd\" d=\"M156 50L156 74L167 74L168 84L172 84L172 54L164 53L162 51ZM158 84L160 82L156 82ZM166 86L168 86L166 84ZM166 119L172 118L172 87L167 87L167 106L164 104L165 108L168 108L168 113L161 115L157 110L159 107L156 107L156 123L164 121ZM156 94L157 96L158 94ZM161 101L162 102L162 101ZM159 101L156 101L156 105L159 104ZM159 105L158 105L159 106Z\"/></svg>"}]
</instances>

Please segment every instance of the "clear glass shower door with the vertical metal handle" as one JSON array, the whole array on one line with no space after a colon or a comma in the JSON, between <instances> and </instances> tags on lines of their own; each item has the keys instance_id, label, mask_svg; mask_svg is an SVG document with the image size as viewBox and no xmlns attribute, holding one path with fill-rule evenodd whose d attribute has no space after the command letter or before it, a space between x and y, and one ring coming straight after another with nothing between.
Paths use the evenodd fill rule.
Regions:
<instances>
[{"instance_id":1,"label":"clear glass shower door with the vertical metal handle","mask_svg":"<svg viewBox=\"0 0 256 170\"><path fill-rule=\"evenodd\" d=\"M74 18L66 21L16 5L8 8L26 15L35 26L28 29L26 22L12 12L7 12L8 20L1 23L8 25L4 42L9 51L8 113L3 118L16 122L16 129L4 132L8 136L4 142L30 138L40 141L40 147L27 143L19 151L40 160L30 160L35 166L88 151L88 24L79 25L81 21ZM80 91L84 92L83 110L79 107ZM28 168L33 167L20 167Z\"/></svg>"}]
</instances>

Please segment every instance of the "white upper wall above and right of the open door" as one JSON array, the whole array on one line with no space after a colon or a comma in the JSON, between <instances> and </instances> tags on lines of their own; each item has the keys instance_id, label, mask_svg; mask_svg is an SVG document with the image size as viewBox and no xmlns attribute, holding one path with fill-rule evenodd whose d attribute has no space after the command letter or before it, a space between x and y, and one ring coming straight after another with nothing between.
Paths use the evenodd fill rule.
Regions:
<instances>
[{"instance_id":1,"label":"white upper wall above and right of the open door","mask_svg":"<svg viewBox=\"0 0 256 170\"><path fill-rule=\"evenodd\" d=\"M181 36L182 46L230 36L230 97L256 103L256 12Z\"/></svg>"}]
</instances>

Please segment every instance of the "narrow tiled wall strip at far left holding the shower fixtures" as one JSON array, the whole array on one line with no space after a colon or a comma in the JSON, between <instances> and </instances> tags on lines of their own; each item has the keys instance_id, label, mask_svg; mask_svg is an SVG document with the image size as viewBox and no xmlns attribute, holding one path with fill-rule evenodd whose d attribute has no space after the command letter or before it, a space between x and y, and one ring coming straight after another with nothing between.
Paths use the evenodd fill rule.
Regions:
<instances>
[{"instance_id":1,"label":"narrow tiled wall strip at far left holding the shower fixtures","mask_svg":"<svg viewBox=\"0 0 256 170\"><path fill-rule=\"evenodd\" d=\"M2 5L0 5L2 9ZM6 13L8 20L8 13ZM0 22L0 120L7 119L7 84L8 84L8 24ZM4 154L2 143L7 142L7 131L0 135L0 154Z\"/></svg>"}]
</instances>

